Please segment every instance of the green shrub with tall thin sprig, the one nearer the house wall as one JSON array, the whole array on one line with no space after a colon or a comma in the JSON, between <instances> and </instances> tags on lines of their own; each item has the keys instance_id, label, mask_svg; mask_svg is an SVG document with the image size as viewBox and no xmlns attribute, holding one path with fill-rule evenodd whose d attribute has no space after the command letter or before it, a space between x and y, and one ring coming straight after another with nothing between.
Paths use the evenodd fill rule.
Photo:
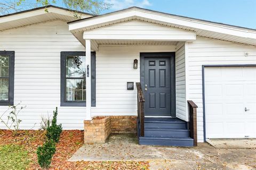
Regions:
<instances>
[{"instance_id":1,"label":"green shrub with tall thin sprig, the one nearer the house wall","mask_svg":"<svg viewBox=\"0 0 256 170\"><path fill-rule=\"evenodd\" d=\"M56 110L53 111L53 118L52 122L47 121L47 128L46 128L46 137L49 140L53 140L54 142L59 142L60 134L62 132L61 124L57 125L57 115L58 115L58 107Z\"/></svg>"}]
</instances>

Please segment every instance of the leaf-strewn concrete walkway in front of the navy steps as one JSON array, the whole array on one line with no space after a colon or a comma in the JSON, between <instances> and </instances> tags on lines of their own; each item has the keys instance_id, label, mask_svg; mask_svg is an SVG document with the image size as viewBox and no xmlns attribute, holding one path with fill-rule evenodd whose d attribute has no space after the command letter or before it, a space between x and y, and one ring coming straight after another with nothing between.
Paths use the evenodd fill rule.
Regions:
<instances>
[{"instance_id":1,"label":"leaf-strewn concrete walkway in front of the navy steps","mask_svg":"<svg viewBox=\"0 0 256 170\"><path fill-rule=\"evenodd\" d=\"M110 135L107 143L84 145L69 161L149 161L151 169L256 169L256 149L156 147L137 144L134 134Z\"/></svg>"}]
</instances>

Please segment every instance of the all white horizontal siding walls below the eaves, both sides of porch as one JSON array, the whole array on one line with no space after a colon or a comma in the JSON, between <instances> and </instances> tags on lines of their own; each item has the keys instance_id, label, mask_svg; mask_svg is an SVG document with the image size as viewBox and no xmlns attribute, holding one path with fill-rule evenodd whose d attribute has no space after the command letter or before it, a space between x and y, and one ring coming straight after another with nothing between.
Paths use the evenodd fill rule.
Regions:
<instances>
[{"instance_id":1,"label":"all white horizontal siding walls below the eaves, both sides of porch","mask_svg":"<svg viewBox=\"0 0 256 170\"><path fill-rule=\"evenodd\" d=\"M142 26L141 26L142 27ZM150 28L150 27L149 27ZM63 21L52 21L0 32L0 50L15 51L14 104L27 106L20 113L21 128L30 129L41 116L59 107L64 129L83 129L85 107L60 107L60 52L84 51ZM198 105L198 141L203 141L202 65L256 64L256 47L197 37L193 43L172 45L100 45L96 53L95 115L137 115L136 90L126 82L139 82L133 60L140 52L176 51L177 116L187 120L187 100ZM249 52L245 57L244 52ZM135 85L135 83L134 83ZM7 106L0 106L0 113ZM4 125L0 123L0 128Z\"/></svg>"}]
</instances>

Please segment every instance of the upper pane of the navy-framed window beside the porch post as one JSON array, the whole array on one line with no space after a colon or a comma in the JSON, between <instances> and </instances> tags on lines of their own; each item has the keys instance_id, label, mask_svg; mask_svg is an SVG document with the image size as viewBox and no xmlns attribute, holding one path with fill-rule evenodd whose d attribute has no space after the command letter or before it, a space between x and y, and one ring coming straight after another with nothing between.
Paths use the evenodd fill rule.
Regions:
<instances>
[{"instance_id":1,"label":"upper pane of the navy-framed window beside the porch post","mask_svg":"<svg viewBox=\"0 0 256 170\"><path fill-rule=\"evenodd\" d=\"M83 78L85 74L85 56L66 56L67 78Z\"/></svg>"}]
</instances>

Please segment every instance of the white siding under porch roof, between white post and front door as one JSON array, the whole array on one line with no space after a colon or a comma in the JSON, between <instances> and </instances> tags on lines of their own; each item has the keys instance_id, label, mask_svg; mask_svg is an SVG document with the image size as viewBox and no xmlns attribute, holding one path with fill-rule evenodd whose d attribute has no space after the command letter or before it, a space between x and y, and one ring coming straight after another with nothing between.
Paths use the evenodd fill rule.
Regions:
<instances>
[{"instance_id":1,"label":"white siding under porch roof, between white post and front door","mask_svg":"<svg viewBox=\"0 0 256 170\"><path fill-rule=\"evenodd\" d=\"M137 90L140 67L133 69L133 60L140 63L141 52L174 52L175 46L103 45L96 53L96 107L92 115L137 115ZM126 82L134 82L127 90Z\"/></svg>"}]
</instances>

